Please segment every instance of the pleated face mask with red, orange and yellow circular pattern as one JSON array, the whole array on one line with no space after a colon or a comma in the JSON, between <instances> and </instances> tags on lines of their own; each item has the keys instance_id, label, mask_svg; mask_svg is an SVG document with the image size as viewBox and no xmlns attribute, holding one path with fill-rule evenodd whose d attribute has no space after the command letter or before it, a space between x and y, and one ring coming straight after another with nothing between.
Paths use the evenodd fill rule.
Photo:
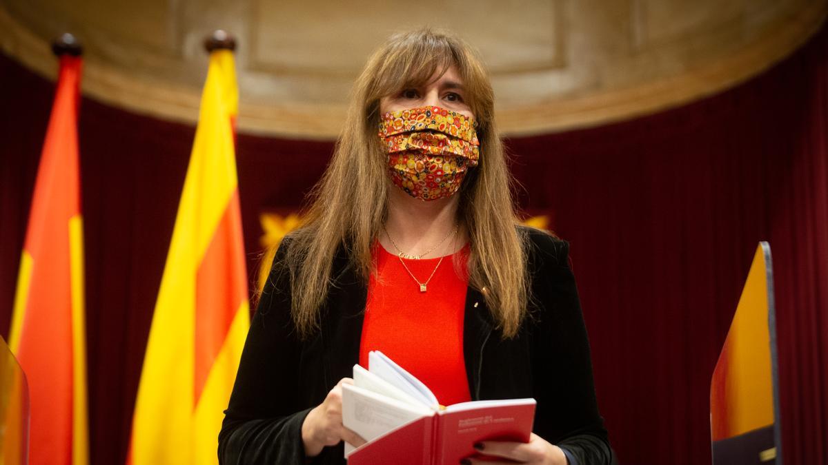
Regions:
<instances>
[{"instance_id":1,"label":"pleated face mask with red, orange and yellow circular pattern","mask_svg":"<svg viewBox=\"0 0 828 465\"><path fill-rule=\"evenodd\" d=\"M379 137L388 152L391 180L415 199L455 194L480 156L475 127L472 118L440 107L383 114Z\"/></svg>"}]
</instances>

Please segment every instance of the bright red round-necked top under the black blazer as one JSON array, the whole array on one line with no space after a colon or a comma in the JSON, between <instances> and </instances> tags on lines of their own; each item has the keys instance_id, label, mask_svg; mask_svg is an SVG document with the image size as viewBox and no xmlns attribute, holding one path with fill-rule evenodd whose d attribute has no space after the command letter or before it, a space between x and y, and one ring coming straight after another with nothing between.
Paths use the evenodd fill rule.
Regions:
<instances>
[{"instance_id":1,"label":"bright red round-necked top under the black blazer","mask_svg":"<svg viewBox=\"0 0 828 465\"><path fill-rule=\"evenodd\" d=\"M468 246L445 256L426 292L379 243L373 248L377 271L368 280L359 364L379 350L422 381L442 405L471 400L463 357L463 319L468 277ZM455 271L455 258L463 268ZM425 283L440 258L403 258L416 280Z\"/></svg>"}]
</instances>

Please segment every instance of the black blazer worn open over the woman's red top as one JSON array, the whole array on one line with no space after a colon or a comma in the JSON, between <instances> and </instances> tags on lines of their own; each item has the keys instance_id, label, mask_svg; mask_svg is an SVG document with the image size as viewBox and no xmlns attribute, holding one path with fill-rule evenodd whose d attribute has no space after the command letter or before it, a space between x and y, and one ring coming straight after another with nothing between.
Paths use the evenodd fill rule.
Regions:
<instances>
[{"instance_id":1,"label":"black blazer worn open over the woman's red top","mask_svg":"<svg viewBox=\"0 0 828 465\"><path fill-rule=\"evenodd\" d=\"M531 312L519 333L503 339L483 295L469 286L463 352L473 400L534 397L534 432L564 448L578 465L609 464L598 412L590 346L568 264L569 244L521 228L532 277ZM320 309L320 330L298 338L283 241L273 260L244 344L219 433L219 463L305 463L301 424L359 362L367 287L348 256L335 256L334 285ZM343 445L310 463L345 463Z\"/></svg>"}]
</instances>

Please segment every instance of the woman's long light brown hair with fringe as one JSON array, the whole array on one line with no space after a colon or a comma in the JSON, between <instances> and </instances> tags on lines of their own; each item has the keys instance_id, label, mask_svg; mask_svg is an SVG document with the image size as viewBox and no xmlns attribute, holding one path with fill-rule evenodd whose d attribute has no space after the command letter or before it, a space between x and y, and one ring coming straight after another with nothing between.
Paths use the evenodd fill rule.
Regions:
<instances>
[{"instance_id":1,"label":"woman's long light brown hair with fringe","mask_svg":"<svg viewBox=\"0 0 828 465\"><path fill-rule=\"evenodd\" d=\"M291 314L303 336L319 324L339 247L368 281L371 247L388 212L387 155L378 137L379 100L428 83L454 65L478 122L480 160L460 188L458 215L469 233L469 284L481 290L495 323L510 338L527 313L526 251L519 237L503 143L494 123L489 76L458 37L429 28L392 36L354 84L351 105L334 156L315 186L306 222L291 235L286 266L291 275ZM392 188L393 189L393 188Z\"/></svg>"}]
</instances>

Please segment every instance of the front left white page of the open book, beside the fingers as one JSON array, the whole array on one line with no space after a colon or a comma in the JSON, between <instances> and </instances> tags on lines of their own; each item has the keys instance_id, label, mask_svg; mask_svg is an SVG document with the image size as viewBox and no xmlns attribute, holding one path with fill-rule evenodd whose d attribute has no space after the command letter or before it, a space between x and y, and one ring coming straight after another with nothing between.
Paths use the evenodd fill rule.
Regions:
<instances>
[{"instance_id":1,"label":"front left white page of the open book, beside the fingers","mask_svg":"<svg viewBox=\"0 0 828 465\"><path fill-rule=\"evenodd\" d=\"M422 405L408 405L358 386L342 385L342 424L366 441L377 439L397 426L435 415ZM354 450L345 443L345 457Z\"/></svg>"}]
</instances>

